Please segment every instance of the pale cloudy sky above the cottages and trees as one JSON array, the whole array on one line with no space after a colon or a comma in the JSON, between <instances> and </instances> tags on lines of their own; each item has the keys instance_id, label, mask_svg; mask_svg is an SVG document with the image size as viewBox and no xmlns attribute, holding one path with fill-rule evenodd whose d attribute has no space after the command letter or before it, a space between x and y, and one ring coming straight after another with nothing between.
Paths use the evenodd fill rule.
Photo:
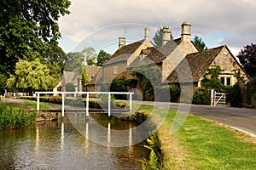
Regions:
<instances>
[{"instance_id":1,"label":"pale cloudy sky above the cottages and trees","mask_svg":"<svg viewBox=\"0 0 256 170\"><path fill-rule=\"evenodd\" d=\"M178 38L184 21L192 25L192 39L201 37L208 48L227 45L236 55L256 41L255 0L71 0L69 10L58 21L66 53L93 47L113 54L119 37L126 44L141 40L145 27L151 39L160 26Z\"/></svg>"}]
</instances>

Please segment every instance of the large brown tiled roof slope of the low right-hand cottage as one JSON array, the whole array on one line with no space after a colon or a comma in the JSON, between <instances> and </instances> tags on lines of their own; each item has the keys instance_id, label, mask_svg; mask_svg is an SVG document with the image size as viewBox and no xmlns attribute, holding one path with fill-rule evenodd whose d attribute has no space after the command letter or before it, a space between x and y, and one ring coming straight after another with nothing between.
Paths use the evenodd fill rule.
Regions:
<instances>
[{"instance_id":1,"label":"large brown tiled roof slope of the low right-hand cottage","mask_svg":"<svg viewBox=\"0 0 256 170\"><path fill-rule=\"evenodd\" d=\"M224 47L220 46L194 54L187 54L172 71L171 75L166 78L167 82L199 82Z\"/></svg>"}]
</instances>

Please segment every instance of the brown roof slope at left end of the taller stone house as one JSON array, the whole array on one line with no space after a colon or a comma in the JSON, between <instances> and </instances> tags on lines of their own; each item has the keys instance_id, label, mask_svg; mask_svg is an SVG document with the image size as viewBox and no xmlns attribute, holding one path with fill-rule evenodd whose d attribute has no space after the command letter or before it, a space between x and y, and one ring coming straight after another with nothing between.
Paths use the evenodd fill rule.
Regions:
<instances>
[{"instance_id":1,"label":"brown roof slope at left end of the taller stone house","mask_svg":"<svg viewBox=\"0 0 256 170\"><path fill-rule=\"evenodd\" d=\"M137 50L137 48L139 48L140 45L142 45L142 43L143 43L143 40L138 41L138 42L133 42L131 44L125 45L122 48L119 48L110 57L110 59L108 59L108 61L104 65L110 65L110 64L113 64L115 62L125 61L125 60L129 59L131 54L133 54Z\"/></svg>"}]
</instances>

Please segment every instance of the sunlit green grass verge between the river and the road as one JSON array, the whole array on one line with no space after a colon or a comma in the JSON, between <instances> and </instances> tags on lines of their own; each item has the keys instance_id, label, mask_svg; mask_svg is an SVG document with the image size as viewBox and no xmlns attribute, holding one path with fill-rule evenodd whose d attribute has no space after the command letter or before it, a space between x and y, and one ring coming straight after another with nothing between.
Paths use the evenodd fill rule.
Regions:
<instances>
[{"instance_id":1,"label":"sunlit green grass verge between the river and the road","mask_svg":"<svg viewBox=\"0 0 256 170\"><path fill-rule=\"evenodd\" d=\"M161 116L165 110L157 112ZM256 139L191 114L171 134L175 115L176 111L169 110L158 129L164 169L256 169Z\"/></svg>"}]
</instances>

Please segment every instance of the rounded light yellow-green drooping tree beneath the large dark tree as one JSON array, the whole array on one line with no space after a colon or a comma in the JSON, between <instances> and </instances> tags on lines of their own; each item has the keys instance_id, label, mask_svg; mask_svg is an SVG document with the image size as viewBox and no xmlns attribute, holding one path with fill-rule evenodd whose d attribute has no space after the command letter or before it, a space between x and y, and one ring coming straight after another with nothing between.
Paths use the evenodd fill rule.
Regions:
<instances>
[{"instance_id":1,"label":"rounded light yellow-green drooping tree beneath the large dark tree","mask_svg":"<svg viewBox=\"0 0 256 170\"><path fill-rule=\"evenodd\" d=\"M29 92L47 90L48 84L53 81L48 66L41 64L39 59L31 62L20 59L15 70L15 75L10 75L6 82L7 88L21 88Z\"/></svg>"}]
</instances>

